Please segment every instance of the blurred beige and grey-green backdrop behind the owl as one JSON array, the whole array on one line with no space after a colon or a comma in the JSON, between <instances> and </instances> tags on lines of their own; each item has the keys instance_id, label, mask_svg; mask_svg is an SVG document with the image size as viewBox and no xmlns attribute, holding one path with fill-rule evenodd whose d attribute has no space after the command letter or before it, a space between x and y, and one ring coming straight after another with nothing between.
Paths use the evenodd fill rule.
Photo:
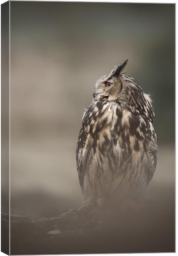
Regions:
<instances>
[{"instance_id":1,"label":"blurred beige and grey-green backdrop behind the owl","mask_svg":"<svg viewBox=\"0 0 178 256\"><path fill-rule=\"evenodd\" d=\"M10 22L11 214L81 206L82 115L95 81L126 58L155 108L158 164L146 198L174 207L175 5L11 1Z\"/></svg>"}]
</instances>

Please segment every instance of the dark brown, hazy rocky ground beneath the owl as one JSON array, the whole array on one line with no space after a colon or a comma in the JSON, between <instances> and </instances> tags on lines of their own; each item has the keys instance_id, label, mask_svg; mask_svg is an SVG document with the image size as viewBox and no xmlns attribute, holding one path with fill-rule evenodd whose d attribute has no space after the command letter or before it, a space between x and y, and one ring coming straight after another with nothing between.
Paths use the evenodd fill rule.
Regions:
<instances>
[{"instance_id":1,"label":"dark brown, hazy rocky ground beneath the owl","mask_svg":"<svg viewBox=\"0 0 178 256\"><path fill-rule=\"evenodd\" d=\"M8 215L2 214L2 223L6 229ZM11 255L174 251L174 207L168 204L93 206L36 220L11 215Z\"/></svg>"}]
</instances>

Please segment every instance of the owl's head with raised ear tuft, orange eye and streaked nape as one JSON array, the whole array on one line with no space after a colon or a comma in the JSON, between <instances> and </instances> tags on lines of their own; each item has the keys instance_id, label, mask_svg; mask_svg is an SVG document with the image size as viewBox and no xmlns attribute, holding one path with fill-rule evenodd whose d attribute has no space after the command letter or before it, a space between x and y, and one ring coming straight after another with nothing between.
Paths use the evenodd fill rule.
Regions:
<instances>
[{"instance_id":1,"label":"owl's head with raised ear tuft, orange eye and streaked nape","mask_svg":"<svg viewBox=\"0 0 178 256\"><path fill-rule=\"evenodd\" d=\"M131 112L150 114L153 119L154 111L150 96L143 92L133 77L121 72L127 61L128 59L119 62L108 75L96 81L93 101L116 102Z\"/></svg>"}]
</instances>

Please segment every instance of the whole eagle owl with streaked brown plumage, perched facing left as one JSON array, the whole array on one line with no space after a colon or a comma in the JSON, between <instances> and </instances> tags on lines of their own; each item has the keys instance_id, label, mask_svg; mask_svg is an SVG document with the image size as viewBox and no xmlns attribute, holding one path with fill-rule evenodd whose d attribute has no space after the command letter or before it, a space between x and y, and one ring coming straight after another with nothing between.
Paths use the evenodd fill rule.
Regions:
<instances>
[{"instance_id":1,"label":"whole eagle owl with streaked brown plumage, perched facing left","mask_svg":"<svg viewBox=\"0 0 178 256\"><path fill-rule=\"evenodd\" d=\"M150 96L119 62L96 81L82 118L76 166L84 206L116 198L143 197L157 162L154 109Z\"/></svg>"}]
</instances>

